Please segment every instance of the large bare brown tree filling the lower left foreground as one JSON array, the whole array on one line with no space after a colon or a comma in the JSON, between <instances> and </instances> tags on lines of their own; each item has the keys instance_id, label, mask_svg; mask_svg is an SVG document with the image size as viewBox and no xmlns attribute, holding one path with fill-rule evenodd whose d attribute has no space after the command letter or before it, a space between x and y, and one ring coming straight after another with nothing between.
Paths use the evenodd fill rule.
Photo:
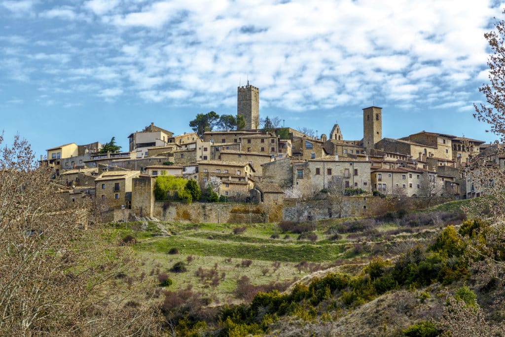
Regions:
<instances>
[{"instance_id":1,"label":"large bare brown tree filling the lower left foreground","mask_svg":"<svg viewBox=\"0 0 505 337\"><path fill-rule=\"evenodd\" d=\"M65 209L33 159L19 136L0 150L0 335L161 332L150 279L122 281L137 270L131 248L83 229L87 205Z\"/></svg>"}]
</instances>

